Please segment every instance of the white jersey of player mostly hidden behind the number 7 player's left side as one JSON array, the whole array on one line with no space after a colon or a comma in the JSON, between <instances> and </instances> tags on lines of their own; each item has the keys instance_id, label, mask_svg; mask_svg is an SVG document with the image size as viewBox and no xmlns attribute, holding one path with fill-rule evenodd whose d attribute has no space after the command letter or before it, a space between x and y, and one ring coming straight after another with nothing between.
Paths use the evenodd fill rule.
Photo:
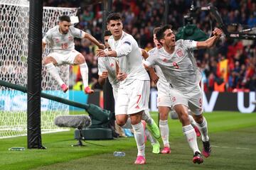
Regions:
<instances>
[{"instance_id":1,"label":"white jersey of player mostly hidden behind the number 7 player's left side","mask_svg":"<svg viewBox=\"0 0 256 170\"><path fill-rule=\"evenodd\" d=\"M112 88L118 89L120 83L116 76L116 61L116 57L98 57L98 74L102 75L103 71L107 71Z\"/></svg>"}]
</instances>

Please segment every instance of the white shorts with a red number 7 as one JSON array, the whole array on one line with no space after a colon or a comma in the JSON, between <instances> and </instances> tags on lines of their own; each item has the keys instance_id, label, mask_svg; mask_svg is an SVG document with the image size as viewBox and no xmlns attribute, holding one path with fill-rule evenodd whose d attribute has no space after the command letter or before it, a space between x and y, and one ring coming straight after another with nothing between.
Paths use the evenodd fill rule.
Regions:
<instances>
[{"instance_id":1,"label":"white shorts with a red number 7","mask_svg":"<svg viewBox=\"0 0 256 170\"><path fill-rule=\"evenodd\" d=\"M149 108L150 81L135 79L131 84L119 87L114 107L116 115L134 114Z\"/></svg>"}]
</instances>

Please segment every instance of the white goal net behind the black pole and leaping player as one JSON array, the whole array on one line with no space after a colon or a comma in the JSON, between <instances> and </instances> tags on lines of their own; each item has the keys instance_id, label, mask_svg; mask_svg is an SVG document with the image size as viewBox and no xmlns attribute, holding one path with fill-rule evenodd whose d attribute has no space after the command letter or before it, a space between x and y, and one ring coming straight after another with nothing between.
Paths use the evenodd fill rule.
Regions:
<instances>
[{"instance_id":1,"label":"white goal net behind the black pole and leaping player","mask_svg":"<svg viewBox=\"0 0 256 170\"><path fill-rule=\"evenodd\" d=\"M27 0L0 0L0 79L26 86L28 58ZM43 35L58 24L58 16L75 16L77 8L43 7ZM43 57L48 54L46 48ZM69 67L58 67L63 81L69 79ZM68 99L43 65L42 92ZM0 86L0 139L27 134L27 94ZM57 115L68 115L69 106L41 98L41 132L67 130L53 124Z\"/></svg>"}]
</instances>

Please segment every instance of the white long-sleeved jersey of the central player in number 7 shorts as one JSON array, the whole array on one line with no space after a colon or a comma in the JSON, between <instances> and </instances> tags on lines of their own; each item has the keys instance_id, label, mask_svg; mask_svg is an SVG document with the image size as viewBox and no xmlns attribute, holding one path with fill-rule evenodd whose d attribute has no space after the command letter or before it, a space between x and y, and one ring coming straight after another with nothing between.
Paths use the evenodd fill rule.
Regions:
<instances>
[{"instance_id":1,"label":"white long-sleeved jersey of the central player in number 7 shorts","mask_svg":"<svg viewBox=\"0 0 256 170\"><path fill-rule=\"evenodd\" d=\"M134 79L149 80L149 75L142 65L141 49L132 35L123 31L119 40L116 41L113 36L110 36L108 42L111 49L117 52L121 72L127 74L127 79L121 81L120 86L127 86Z\"/></svg>"}]
</instances>

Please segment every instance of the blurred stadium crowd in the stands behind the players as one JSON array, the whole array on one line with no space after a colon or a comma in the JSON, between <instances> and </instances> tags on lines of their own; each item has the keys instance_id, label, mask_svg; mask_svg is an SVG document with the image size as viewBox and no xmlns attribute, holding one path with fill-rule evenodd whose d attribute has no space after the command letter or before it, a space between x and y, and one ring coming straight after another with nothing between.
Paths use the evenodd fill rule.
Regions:
<instances>
[{"instance_id":1,"label":"blurred stadium crowd in the stands behind the players","mask_svg":"<svg viewBox=\"0 0 256 170\"><path fill-rule=\"evenodd\" d=\"M228 30L242 30L256 27L256 2L250 0L194 1L196 6L208 3L218 8L221 18ZM43 6L78 7L80 1L44 1ZM153 48L152 31L161 26L164 18L164 0L114 0L112 11L124 17L124 30L133 35L140 47L145 50ZM178 32L186 22L183 16L191 8L191 1L169 1L168 23ZM80 23L76 27L102 40L102 4L80 8ZM198 13L193 23L203 32L210 35L218 23L208 12ZM252 30L253 31L253 30ZM254 30L255 31L255 30ZM101 88L97 84L96 46L89 40L75 40L75 49L85 56L89 67L89 81L92 88ZM213 50L198 50L195 53L198 67L203 74L204 91L255 91L256 89L256 40L235 40L222 38ZM78 67L70 68L70 86L80 89L81 77ZM151 86L155 87L152 83Z\"/></svg>"}]
</instances>

